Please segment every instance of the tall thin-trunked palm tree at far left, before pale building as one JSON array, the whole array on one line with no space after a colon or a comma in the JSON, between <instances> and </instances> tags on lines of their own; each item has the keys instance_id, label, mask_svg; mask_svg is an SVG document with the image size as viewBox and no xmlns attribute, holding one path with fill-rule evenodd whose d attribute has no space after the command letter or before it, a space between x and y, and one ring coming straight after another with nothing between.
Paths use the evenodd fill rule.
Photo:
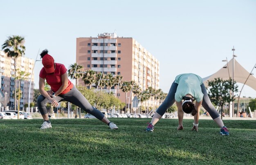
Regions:
<instances>
[{"instance_id":1,"label":"tall thin-trunked palm tree at far left, before pale building","mask_svg":"<svg viewBox=\"0 0 256 165\"><path fill-rule=\"evenodd\" d=\"M4 53L7 53L8 57L14 58L14 90L16 93L16 59L25 54L25 38L19 35L12 35L5 40L2 44ZM14 110L16 110L16 95L14 95Z\"/></svg>"}]
</instances>

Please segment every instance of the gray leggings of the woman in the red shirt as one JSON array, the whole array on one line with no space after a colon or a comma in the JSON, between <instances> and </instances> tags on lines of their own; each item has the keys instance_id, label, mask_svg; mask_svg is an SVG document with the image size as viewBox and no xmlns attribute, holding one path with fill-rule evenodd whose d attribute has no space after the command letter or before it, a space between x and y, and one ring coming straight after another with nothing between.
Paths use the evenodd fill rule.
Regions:
<instances>
[{"instance_id":1,"label":"gray leggings of the woman in the red shirt","mask_svg":"<svg viewBox=\"0 0 256 165\"><path fill-rule=\"evenodd\" d=\"M79 90L76 89L75 86L64 95L58 95L54 97L54 100L57 102L69 101L70 103L80 107L82 110L92 114L99 120L102 120L104 117L104 114L96 108L92 107L87 99L85 99L85 97L81 94L81 92L79 92ZM47 114L46 103L49 103L48 99L46 99L43 95L38 96L37 105L42 115Z\"/></svg>"}]
</instances>

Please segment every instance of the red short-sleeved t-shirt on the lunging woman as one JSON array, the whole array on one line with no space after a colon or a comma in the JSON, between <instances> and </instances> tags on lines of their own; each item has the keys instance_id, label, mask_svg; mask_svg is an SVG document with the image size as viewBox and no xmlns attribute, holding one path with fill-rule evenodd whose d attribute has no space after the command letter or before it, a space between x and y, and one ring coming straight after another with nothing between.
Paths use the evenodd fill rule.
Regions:
<instances>
[{"instance_id":1,"label":"red short-sleeved t-shirt on the lunging woman","mask_svg":"<svg viewBox=\"0 0 256 165\"><path fill-rule=\"evenodd\" d=\"M51 86L52 91L56 92L62 85L61 75L65 74L67 69L63 64L55 63L54 74L47 74L45 68L40 70L39 77L46 79L47 84ZM61 92L61 95L69 92L73 88L72 82L68 79L67 88Z\"/></svg>"}]
</instances>

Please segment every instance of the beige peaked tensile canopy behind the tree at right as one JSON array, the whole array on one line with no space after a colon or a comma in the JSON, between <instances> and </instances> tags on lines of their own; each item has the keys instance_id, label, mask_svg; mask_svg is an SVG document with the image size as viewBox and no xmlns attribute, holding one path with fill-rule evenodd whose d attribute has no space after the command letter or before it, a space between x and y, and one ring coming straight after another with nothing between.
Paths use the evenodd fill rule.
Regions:
<instances>
[{"instance_id":1,"label":"beige peaked tensile canopy behind the tree at right","mask_svg":"<svg viewBox=\"0 0 256 165\"><path fill-rule=\"evenodd\" d=\"M256 90L256 78L253 75L250 75L250 73L241 66L236 59L234 59L234 81L245 84L254 90ZM254 66L255 67L255 66ZM249 76L249 78L248 78ZM228 80L229 77L231 79L233 78L233 59L231 59L225 68L221 68L218 70L218 72L214 73L213 75L210 75L208 77L203 78L204 85L206 87L208 86L208 81L214 80L214 78L222 78L223 80ZM247 79L248 78L248 79ZM246 81L247 79L247 81ZM246 81L246 83L245 83Z\"/></svg>"}]
</instances>

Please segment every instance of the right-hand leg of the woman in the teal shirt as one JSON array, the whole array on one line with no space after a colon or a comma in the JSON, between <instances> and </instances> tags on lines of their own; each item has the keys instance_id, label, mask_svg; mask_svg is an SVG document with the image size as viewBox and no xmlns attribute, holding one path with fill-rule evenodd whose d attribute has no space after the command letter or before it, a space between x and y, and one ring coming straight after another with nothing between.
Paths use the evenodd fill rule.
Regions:
<instances>
[{"instance_id":1,"label":"right-hand leg of the woman in the teal shirt","mask_svg":"<svg viewBox=\"0 0 256 165\"><path fill-rule=\"evenodd\" d=\"M202 90L202 93L204 94L202 106L204 107L205 110L207 110L207 112L209 112L211 118L216 122L216 124L218 124L220 127L223 127L224 124L220 118L220 114L211 103L211 100L207 94L207 90L204 84L201 85L201 90Z\"/></svg>"}]
</instances>

